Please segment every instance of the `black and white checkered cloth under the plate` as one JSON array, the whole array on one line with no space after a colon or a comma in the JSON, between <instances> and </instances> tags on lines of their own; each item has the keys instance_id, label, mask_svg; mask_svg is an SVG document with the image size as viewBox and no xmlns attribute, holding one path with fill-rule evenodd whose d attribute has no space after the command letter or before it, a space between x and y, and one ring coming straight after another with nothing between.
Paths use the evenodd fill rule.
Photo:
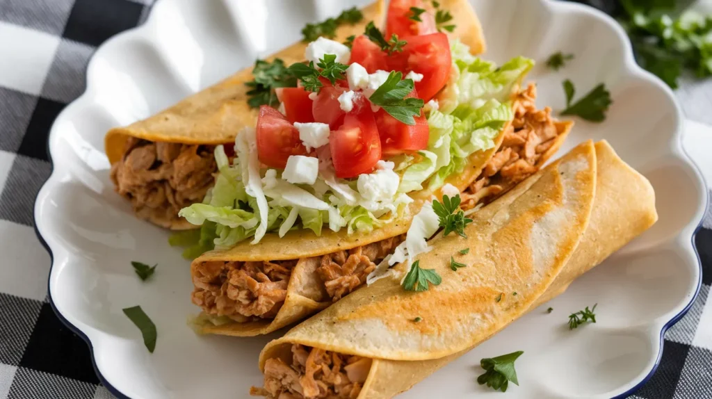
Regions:
<instances>
[{"instance_id":1,"label":"black and white checkered cloth under the plate","mask_svg":"<svg viewBox=\"0 0 712 399\"><path fill-rule=\"evenodd\" d=\"M151 1L0 0L0 399L112 398L87 344L48 302L51 260L33 231L33 203L52 169L49 129L83 92L90 55L141 23ZM690 93L679 92L684 105ZM711 109L712 100L706 104ZM708 110L694 117L709 118ZM705 306L712 230L700 230L696 245L700 295L666 334L662 363L634 398L712 398L712 304Z\"/></svg>"}]
</instances>

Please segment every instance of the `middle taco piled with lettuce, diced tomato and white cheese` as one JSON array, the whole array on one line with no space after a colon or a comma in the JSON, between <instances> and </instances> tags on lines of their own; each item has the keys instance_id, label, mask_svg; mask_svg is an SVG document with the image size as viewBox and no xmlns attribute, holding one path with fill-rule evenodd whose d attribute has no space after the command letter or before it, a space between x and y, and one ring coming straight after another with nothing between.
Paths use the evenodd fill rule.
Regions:
<instances>
[{"instance_id":1,"label":"middle taco piled with lettuce, diced tomato and white cheese","mask_svg":"<svg viewBox=\"0 0 712 399\"><path fill-rule=\"evenodd\" d=\"M399 9L402 3L390 3L389 23L394 16L412 13ZM319 76L322 87L313 100L314 117L318 105L325 102L323 96L333 102L335 97L350 93L353 104L352 110L342 110L342 115L332 118L342 118L343 122L336 122L343 123L342 127L334 129L323 123L329 136L322 147L315 144L315 151L300 150L306 151L300 161L318 169L309 183L290 181L298 174L298 168L290 170L288 165L298 157L290 152L297 147L281 154L286 165L273 164L279 155L277 149L267 147L265 153L261 148L260 135L275 126L282 139L290 134L303 137L304 132L274 110L261 110L257 129L245 129L237 137L232 162L217 149L220 173L215 187L206 201L180 213L201 225L199 250L206 244L215 247L191 266L192 302L202 310L196 319L199 331L266 334L328 307L362 287L376 265L409 234L417 233L410 232L414 217L431 196L462 193L463 208L475 208L534 174L560 147L572 123L553 119L548 107L537 110L535 85L520 86L533 61L519 57L497 67L478 58L453 37L462 33L474 48L484 48L471 6L464 0L439 4L445 6L456 9L459 16L452 19L458 26L451 36L440 32L407 36L402 51L389 54L372 38L383 33L370 25L365 35L353 38L351 64L348 68L344 65L342 85L347 87ZM426 29L429 15L432 18L423 11L419 14L422 21L417 23L406 18L412 22L409 32ZM394 29L387 25L386 36ZM397 33L391 35L391 44L384 46L399 43ZM338 43L328 46L340 52ZM317 47L307 50L307 58ZM369 55L362 55L366 50ZM339 53L335 58L342 56ZM398 65L404 59L426 60L427 65ZM328 70L327 60L321 61L323 70ZM367 69L379 63L384 63L384 68L394 63L393 68L401 70ZM369 84L379 81L379 76L384 80L379 81L380 86L358 89L353 83L357 78L351 73L355 65L370 72ZM299 68L306 67L302 64ZM404 68L410 72L406 74ZM434 80L439 81L435 87L431 85ZM304 82L302 85L311 84L308 77ZM423 106L427 100L429 106L414 112L412 124L397 119L402 116L397 112L407 110L392 112L397 105L374 100L389 82L396 85L394 90L404 92L399 105L418 98ZM397 85L402 85L401 89ZM335 96L333 91L341 95ZM426 92L431 94L417 97ZM333 111L333 106L326 107ZM353 127L348 126L350 120ZM369 136L372 124L377 127L375 142L357 142L347 146L357 149L357 154L342 154L339 143L348 141L347 137ZM298 140L297 144L301 145ZM370 164L362 173L353 173L367 162Z\"/></svg>"}]
</instances>

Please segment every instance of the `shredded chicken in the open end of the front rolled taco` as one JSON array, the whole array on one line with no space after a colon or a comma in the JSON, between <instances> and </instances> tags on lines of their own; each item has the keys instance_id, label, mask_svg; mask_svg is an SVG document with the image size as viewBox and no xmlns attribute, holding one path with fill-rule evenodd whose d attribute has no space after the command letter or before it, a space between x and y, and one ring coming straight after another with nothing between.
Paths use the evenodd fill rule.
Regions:
<instances>
[{"instance_id":1,"label":"shredded chicken in the open end of the front rolled taco","mask_svg":"<svg viewBox=\"0 0 712 399\"><path fill-rule=\"evenodd\" d=\"M266 361L264 388L253 387L250 394L270 399L355 399L371 363L370 358L294 344L291 362Z\"/></svg>"}]
</instances>

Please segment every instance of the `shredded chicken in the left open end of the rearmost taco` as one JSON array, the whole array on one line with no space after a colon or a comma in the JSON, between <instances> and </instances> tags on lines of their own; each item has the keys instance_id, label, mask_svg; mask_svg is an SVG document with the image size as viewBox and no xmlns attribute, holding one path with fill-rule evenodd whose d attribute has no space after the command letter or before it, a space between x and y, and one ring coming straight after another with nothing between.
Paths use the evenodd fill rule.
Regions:
<instances>
[{"instance_id":1,"label":"shredded chicken in the left open end of the rearmost taco","mask_svg":"<svg viewBox=\"0 0 712 399\"><path fill-rule=\"evenodd\" d=\"M213 185L213 150L130 137L124 156L111 167L111 179L140 218L170 227L181 208L202 201Z\"/></svg>"}]
</instances>

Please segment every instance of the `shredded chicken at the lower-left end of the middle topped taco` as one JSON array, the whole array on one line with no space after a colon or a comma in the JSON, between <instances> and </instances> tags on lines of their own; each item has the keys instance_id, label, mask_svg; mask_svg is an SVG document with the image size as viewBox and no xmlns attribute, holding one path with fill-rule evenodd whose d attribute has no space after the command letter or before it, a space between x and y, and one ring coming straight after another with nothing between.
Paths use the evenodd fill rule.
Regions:
<instances>
[{"instance_id":1,"label":"shredded chicken at the lower-left end of the middle topped taco","mask_svg":"<svg viewBox=\"0 0 712 399\"><path fill-rule=\"evenodd\" d=\"M316 270L328 297L336 302L366 282L377 263L404 236L387 238L351 250L323 255ZM203 262L193 273L192 301L207 314L235 321L273 319L287 297L298 260Z\"/></svg>"}]
</instances>

